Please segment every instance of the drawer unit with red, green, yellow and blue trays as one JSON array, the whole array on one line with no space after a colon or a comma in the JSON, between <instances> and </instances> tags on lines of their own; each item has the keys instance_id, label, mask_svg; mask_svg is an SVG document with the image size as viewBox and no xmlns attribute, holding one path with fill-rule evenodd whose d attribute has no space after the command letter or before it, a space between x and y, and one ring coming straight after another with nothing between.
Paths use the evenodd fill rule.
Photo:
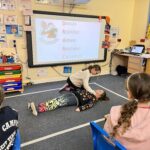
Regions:
<instances>
[{"instance_id":1,"label":"drawer unit with red, green, yellow and blue trays","mask_svg":"<svg viewBox=\"0 0 150 150\"><path fill-rule=\"evenodd\" d=\"M22 65L0 64L0 84L5 93L20 91L23 93Z\"/></svg>"}]
</instances>

